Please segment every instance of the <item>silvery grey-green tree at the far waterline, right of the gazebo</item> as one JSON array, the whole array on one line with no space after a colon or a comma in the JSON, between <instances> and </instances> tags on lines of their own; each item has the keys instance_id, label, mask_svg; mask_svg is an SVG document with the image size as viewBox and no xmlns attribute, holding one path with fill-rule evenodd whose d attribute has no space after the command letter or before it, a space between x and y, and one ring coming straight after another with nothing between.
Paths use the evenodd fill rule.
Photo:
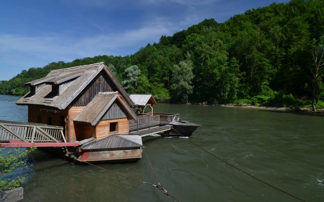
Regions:
<instances>
[{"instance_id":1,"label":"silvery grey-green tree at the far waterline, right of the gazebo","mask_svg":"<svg viewBox=\"0 0 324 202\"><path fill-rule=\"evenodd\" d=\"M177 99L188 103L188 96L192 93L193 64L187 52L186 59L172 69L172 89Z\"/></svg>"}]
</instances>

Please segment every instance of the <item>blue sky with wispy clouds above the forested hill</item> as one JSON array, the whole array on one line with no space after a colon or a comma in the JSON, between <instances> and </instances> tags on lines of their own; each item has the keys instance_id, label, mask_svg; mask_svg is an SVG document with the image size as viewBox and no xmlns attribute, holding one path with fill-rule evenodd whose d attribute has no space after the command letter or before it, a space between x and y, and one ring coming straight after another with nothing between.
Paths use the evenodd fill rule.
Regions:
<instances>
[{"instance_id":1,"label":"blue sky with wispy clouds above the forested hill","mask_svg":"<svg viewBox=\"0 0 324 202\"><path fill-rule=\"evenodd\" d=\"M51 62L130 55L205 18L224 22L273 2L288 0L0 1L0 80Z\"/></svg>"}]
</instances>

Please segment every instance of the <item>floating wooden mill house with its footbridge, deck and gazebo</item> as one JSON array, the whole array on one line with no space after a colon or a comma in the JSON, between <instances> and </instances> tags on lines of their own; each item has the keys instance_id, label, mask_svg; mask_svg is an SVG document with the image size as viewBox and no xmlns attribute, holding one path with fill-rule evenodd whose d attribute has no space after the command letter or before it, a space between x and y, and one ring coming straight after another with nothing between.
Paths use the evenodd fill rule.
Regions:
<instances>
[{"instance_id":1,"label":"floating wooden mill house with its footbridge, deck and gazebo","mask_svg":"<svg viewBox=\"0 0 324 202\"><path fill-rule=\"evenodd\" d=\"M30 92L16 104L28 106L28 122L0 121L0 147L35 145L76 162L138 160L143 136L179 121L153 112L151 94L130 97L103 62L52 70L25 85Z\"/></svg>"}]
</instances>

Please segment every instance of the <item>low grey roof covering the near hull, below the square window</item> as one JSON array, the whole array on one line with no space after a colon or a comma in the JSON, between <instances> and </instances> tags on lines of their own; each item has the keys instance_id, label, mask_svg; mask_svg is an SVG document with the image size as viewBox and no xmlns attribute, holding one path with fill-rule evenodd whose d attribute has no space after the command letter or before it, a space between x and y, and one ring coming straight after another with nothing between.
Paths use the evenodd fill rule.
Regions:
<instances>
[{"instance_id":1,"label":"low grey roof covering the near hull, below the square window","mask_svg":"<svg viewBox=\"0 0 324 202\"><path fill-rule=\"evenodd\" d=\"M136 148L141 147L142 138L139 135L115 135L112 134L97 142L93 142L81 147L82 150L106 150L118 148Z\"/></svg>"}]
</instances>

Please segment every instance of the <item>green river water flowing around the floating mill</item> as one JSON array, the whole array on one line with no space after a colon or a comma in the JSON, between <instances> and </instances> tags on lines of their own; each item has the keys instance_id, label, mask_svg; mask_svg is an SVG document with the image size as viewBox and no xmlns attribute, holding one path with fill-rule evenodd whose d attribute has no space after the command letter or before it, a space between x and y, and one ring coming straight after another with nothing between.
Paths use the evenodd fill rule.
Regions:
<instances>
[{"instance_id":1,"label":"green river water flowing around the floating mill","mask_svg":"<svg viewBox=\"0 0 324 202\"><path fill-rule=\"evenodd\" d=\"M0 119L27 121L19 97L0 95ZM190 138L143 138L156 175L180 201L298 201L224 164L199 144L242 170L308 202L324 201L324 117L245 108L159 104L202 126ZM156 184L145 155L136 163L101 167ZM30 155L24 201L174 201L155 187L75 165L37 149Z\"/></svg>"}]
</instances>

